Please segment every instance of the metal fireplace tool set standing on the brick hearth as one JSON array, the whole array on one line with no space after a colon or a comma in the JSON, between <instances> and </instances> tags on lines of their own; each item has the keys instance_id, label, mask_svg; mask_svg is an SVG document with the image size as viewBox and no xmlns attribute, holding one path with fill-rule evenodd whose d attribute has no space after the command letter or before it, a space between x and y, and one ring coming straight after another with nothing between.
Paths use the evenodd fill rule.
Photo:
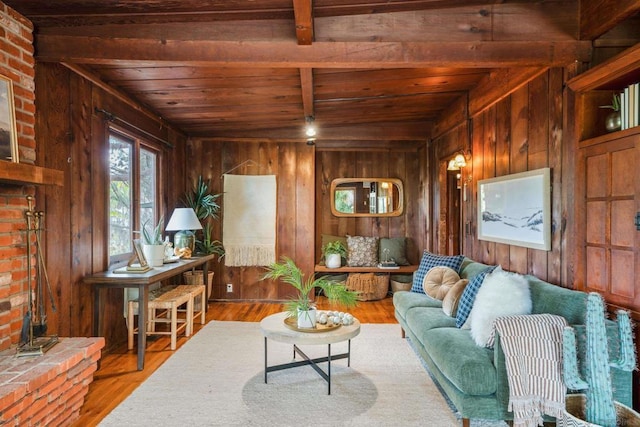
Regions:
<instances>
[{"instance_id":1,"label":"metal fireplace tool set standing on the brick hearth","mask_svg":"<svg viewBox=\"0 0 640 427\"><path fill-rule=\"evenodd\" d=\"M44 212L36 212L33 209L34 198L27 196L28 209L25 211L27 220L27 284L28 308L22 323L20 346L18 356L40 356L48 351L58 342L57 336L46 336L47 333L47 313L44 300L44 285L51 299L51 309L55 312L56 305L53 299L47 268L42 254L42 231L44 228ZM35 240L35 250L32 242ZM35 258L35 266L32 265L32 258ZM35 267L35 285L31 270ZM35 295L34 295L35 294Z\"/></svg>"}]
</instances>

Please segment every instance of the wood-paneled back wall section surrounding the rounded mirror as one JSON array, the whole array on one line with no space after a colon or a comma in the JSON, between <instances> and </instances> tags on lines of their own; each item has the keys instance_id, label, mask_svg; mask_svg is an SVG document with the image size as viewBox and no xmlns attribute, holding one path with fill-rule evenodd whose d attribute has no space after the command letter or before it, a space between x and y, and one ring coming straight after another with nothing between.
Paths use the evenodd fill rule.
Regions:
<instances>
[{"instance_id":1,"label":"wood-paneled back wall section surrounding the rounded mirror","mask_svg":"<svg viewBox=\"0 0 640 427\"><path fill-rule=\"evenodd\" d=\"M420 262L426 218L421 155L419 151L321 151L316 156L316 245L315 260L321 258L321 236L408 237L407 255ZM404 213L398 217L336 217L331 214L329 188L336 178L398 178L404 187Z\"/></svg>"}]
</instances>

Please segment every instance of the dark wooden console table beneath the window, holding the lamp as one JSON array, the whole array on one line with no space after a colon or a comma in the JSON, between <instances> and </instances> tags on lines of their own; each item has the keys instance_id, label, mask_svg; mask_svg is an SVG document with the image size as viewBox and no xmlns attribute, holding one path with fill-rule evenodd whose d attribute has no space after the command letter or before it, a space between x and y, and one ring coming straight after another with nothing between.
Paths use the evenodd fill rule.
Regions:
<instances>
[{"instance_id":1,"label":"dark wooden console table beneath the window, holding the lamp","mask_svg":"<svg viewBox=\"0 0 640 427\"><path fill-rule=\"evenodd\" d=\"M171 279L181 275L185 271L193 270L202 266L204 274L204 285L207 286L209 261L215 257L214 254L180 259L175 263L165 264L162 267L153 267L146 273L114 273L113 270L103 271L86 276L84 283L93 287L93 335L98 336L102 330L102 311L104 309L100 292L104 288L137 288L139 292L138 305L138 328L144 331L147 324L147 307L149 304L149 287L163 280ZM203 302L203 309L206 310L206 301ZM138 370L144 369L144 353L147 346L147 334L138 334Z\"/></svg>"}]
</instances>

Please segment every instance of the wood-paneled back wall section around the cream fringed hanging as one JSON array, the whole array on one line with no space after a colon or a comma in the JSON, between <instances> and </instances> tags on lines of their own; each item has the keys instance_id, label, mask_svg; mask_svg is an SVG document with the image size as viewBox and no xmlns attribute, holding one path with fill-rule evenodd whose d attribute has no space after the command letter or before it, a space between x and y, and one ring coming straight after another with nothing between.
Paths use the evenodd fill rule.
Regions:
<instances>
[{"instance_id":1,"label":"wood-paneled back wall section around the cream fringed hanging","mask_svg":"<svg viewBox=\"0 0 640 427\"><path fill-rule=\"evenodd\" d=\"M314 241L314 155L313 147L304 142L220 142L194 139L189 142L187 183L198 175L210 180L213 193L223 192L224 173L238 175L276 175L278 188L276 254L287 256L306 272L313 273ZM190 185L190 184L188 184ZM222 223L224 195L220 221L214 236L224 240ZM224 260L214 263L213 299L284 300L291 287L260 280L262 267L225 267ZM226 284L233 284L233 292Z\"/></svg>"}]
</instances>

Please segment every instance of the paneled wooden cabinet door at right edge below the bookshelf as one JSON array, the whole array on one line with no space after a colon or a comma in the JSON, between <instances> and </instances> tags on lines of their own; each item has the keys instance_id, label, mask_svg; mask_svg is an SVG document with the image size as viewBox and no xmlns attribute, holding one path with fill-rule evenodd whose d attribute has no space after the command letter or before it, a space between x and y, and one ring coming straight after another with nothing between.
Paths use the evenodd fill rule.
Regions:
<instances>
[{"instance_id":1,"label":"paneled wooden cabinet door at right edge below the bookshelf","mask_svg":"<svg viewBox=\"0 0 640 427\"><path fill-rule=\"evenodd\" d=\"M583 148L585 197L584 270L577 279L586 291L613 304L640 309L640 136L632 135Z\"/></svg>"}]
</instances>

